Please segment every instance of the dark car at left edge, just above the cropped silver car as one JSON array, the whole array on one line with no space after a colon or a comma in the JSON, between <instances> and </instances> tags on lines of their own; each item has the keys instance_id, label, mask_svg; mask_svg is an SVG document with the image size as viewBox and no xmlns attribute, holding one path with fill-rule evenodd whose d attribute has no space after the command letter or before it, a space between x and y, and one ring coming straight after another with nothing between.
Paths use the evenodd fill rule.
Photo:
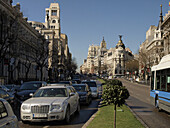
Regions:
<instances>
[{"instance_id":1,"label":"dark car at left edge, just above the cropped silver car","mask_svg":"<svg viewBox=\"0 0 170 128\"><path fill-rule=\"evenodd\" d=\"M7 91L0 88L0 98L5 99L12 107L14 107L14 95L11 95Z\"/></svg>"}]
</instances>

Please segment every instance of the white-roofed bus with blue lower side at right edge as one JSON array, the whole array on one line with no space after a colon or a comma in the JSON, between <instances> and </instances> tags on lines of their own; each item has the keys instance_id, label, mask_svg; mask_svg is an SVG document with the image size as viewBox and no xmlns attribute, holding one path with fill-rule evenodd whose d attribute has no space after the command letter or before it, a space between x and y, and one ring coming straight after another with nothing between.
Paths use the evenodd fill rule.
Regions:
<instances>
[{"instance_id":1,"label":"white-roofed bus with blue lower side at right edge","mask_svg":"<svg viewBox=\"0 0 170 128\"><path fill-rule=\"evenodd\" d=\"M151 68L151 103L159 110L170 112L170 54Z\"/></svg>"}]
</instances>

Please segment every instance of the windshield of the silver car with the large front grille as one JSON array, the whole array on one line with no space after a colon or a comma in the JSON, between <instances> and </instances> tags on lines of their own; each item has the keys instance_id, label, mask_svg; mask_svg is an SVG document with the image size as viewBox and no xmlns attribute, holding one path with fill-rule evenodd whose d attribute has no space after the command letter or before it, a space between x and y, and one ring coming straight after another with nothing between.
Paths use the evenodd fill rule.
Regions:
<instances>
[{"instance_id":1,"label":"windshield of the silver car with the large front grille","mask_svg":"<svg viewBox=\"0 0 170 128\"><path fill-rule=\"evenodd\" d=\"M65 88L39 89L33 97L67 97L67 91Z\"/></svg>"}]
</instances>

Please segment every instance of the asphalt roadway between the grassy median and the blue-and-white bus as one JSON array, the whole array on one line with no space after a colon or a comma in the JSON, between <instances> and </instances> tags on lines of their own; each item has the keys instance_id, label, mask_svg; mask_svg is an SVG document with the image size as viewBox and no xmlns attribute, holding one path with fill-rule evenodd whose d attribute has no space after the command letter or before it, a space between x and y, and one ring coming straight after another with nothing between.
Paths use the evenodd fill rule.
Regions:
<instances>
[{"instance_id":1,"label":"asphalt roadway between the grassy median and the blue-and-white bus","mask_svg":"<svg viewBox=\"0 0 170 128\"><path fill-rule=\"evenodd\" d=\"M120 79L123 85L129 90L130 97L126 101L131 110L149 128L169 128L170 113L159 112L150 103L150 88L147 85L140 85L130 81Z\"/></svg>"}]
</instances>

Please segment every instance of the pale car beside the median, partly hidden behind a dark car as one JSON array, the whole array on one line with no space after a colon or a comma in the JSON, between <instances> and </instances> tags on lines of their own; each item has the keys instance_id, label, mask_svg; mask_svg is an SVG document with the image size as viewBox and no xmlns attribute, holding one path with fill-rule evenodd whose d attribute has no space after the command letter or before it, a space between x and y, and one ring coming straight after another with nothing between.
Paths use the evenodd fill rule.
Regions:
<instances>
[{"instance_id":1,"label":"pale car beside the median, partly hidden behind a dark car","mask_svg":"<svg viewBox=\"0 0 170 128\"><path fill-rule=\"evenodd\" d=\"M95 81L82 81L82 84L88 84L88 86L91 89L92 92L92 97L93 98L98 98L98 88L97 88L97 84Z\"/></svg>"}]
</instances>

